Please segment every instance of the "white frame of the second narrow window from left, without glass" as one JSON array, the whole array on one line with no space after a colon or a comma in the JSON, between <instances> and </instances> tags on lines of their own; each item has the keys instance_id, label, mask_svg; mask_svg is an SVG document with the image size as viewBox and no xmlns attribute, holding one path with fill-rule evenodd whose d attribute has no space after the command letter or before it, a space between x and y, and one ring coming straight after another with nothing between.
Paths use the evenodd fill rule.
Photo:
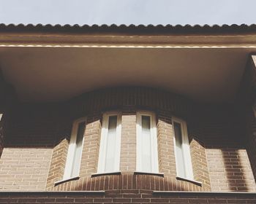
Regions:
<instances>
[{"instance_id":1,"label":"white frame of the second narrow window from left, without glass","mask_svg":"<svg viewBox=\"0 0 256 204\"><path fill-rule=\"evenodd\" d=\"M105 156L107 151L107 141L108 141L108 122L109 117L117 116L116 123L116 154L115 154L115 162L113 172L118 172L120 170L120 154L121 154L121 112L118 111L110 111L103 114L102 117L102 131L100 136L100 144L99 144L99 161L98 161L98 169L97 173L112 173L105 172Z\"/></svg>"}]
</instances>

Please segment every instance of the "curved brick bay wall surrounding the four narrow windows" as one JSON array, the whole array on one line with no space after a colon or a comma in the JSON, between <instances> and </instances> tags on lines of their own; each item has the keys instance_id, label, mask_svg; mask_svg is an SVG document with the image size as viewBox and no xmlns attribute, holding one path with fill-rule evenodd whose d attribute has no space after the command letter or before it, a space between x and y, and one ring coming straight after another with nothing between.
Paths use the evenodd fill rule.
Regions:
<instances>
[{"instance_id":1,"label":"curved brick bay wall surrounding the four narrow windows","mask_svg":"<svg viewBox=\"0 0 256 204\"><path fill-rule=\"evenodd\" d=\"M112 88L87 93L64 105L73 118L88 117L84 135L83 155L80 165L80 179L68 181L54 187L61 180L67 157L67 139L63 138L53 149L53 158L48 176L48 190L99 190L99 189L156 189L209 191L210 179L206 151L197 138L190 137L194 177L203 183L202 187L187 181L176 180L176 161L173 146L172 115L186 119L192 112L192 103L178 95L159 90L129 87ZM99 141L102 113L109 110L122 111L121 117L121 175L98 176ZM159 172L161 176L134 175L136 168L136 111L150 110L157 114L157 138Z\"/></svg>"}]
</instances>

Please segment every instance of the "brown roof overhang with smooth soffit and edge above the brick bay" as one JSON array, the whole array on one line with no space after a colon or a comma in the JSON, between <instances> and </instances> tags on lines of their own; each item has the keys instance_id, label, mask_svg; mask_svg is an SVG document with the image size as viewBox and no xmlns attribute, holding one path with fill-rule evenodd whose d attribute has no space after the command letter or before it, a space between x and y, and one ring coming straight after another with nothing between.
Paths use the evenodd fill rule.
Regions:
<instances>
[{"instance_id":1,"label":"brown roof overhang with smooth soffit and edge above the brick bay","mask_svg":"<svg viewBox=\"0 0 256 204\"><path fill-rule=\"evenodd\" d=\"M146 86L195 101L232 102L248 55L256 52L256 29L185 28L6 26L0 67L23 101Z\"/></svg>"}]
</instances>

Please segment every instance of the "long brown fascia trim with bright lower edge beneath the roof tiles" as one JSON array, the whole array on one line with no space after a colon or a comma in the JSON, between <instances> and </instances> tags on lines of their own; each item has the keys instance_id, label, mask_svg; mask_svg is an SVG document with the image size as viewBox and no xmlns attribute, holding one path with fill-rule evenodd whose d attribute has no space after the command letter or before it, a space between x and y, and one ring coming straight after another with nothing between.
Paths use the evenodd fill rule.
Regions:
<instances>
[{"instance_id":1,"label":"long brown fascia trim with bright lower edge beneath the roof tiles","mask_svg":"<svg viewBox=\"0 0 256 204\"><path fill-rule=\"evenodd\" d=\"M56 38L56 36L58 36ZM114 40L113 40L114 39ZM255 34L1 34L0 47L255 48Z\"/></svg>"}]
</instances>

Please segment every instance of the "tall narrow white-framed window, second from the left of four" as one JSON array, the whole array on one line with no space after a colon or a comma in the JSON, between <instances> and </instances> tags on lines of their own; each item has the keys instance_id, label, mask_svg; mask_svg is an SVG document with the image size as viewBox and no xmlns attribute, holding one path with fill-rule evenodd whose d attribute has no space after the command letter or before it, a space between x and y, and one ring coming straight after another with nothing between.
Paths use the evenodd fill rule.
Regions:
<instances>
[{"instance_id":1,"label":"tall narrow white-framed window, second from the left of four","mask_svg":"<svg viewBox=\"0 0 256 204\"><path fill-rule=\"evenodd\" d=\"M106 113L102 119L98 173L119 171L121 149L121 114Z\"/></svg>"}]
</instances>

